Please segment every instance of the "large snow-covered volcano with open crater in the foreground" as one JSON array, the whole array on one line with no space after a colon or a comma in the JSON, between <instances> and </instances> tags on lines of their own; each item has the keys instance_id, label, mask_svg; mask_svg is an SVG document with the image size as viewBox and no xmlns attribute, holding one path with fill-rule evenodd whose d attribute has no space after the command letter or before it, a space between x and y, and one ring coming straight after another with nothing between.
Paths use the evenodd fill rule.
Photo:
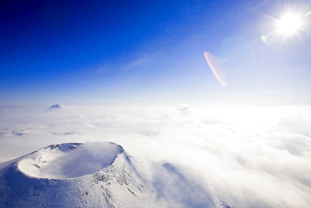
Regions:
<instances>
[{"instance_id":1,"label":"large snow-covered volcano with open crater in the foreground","mask_svg":"<svg viewBox=\"0 0 311 208\"><path fill-rule=\"evenodd\" d=\"M64 143L0 163L0 207L225 207L171 163Z\"/></svg>"}]
</instances>

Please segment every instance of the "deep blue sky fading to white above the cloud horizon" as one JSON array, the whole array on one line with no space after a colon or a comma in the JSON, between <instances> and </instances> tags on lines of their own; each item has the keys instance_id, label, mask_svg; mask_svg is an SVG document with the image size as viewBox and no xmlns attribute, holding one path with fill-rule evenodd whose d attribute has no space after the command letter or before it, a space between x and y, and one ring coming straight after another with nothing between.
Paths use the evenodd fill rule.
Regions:
<instances>
[{"instance_id":1,"label":"deep blue sky fading to white above the cloud horizon","mask_svg":"<svg viewBox=\"0 0 311 208\"><path fill-rule=\"evenodd\" d=\"M297 35L260 38L309 1L1 4L0 105L311 101L311 15ZM227 86L205 51L223 60Z\"/></svg>"}]
</instances>

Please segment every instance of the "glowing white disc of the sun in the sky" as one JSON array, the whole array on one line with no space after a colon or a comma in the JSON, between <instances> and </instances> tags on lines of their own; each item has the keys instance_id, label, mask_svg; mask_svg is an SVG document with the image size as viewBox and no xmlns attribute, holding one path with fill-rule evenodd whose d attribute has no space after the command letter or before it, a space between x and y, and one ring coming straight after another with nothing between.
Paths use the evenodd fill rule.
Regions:
<instances>
[{"instance_id":1,"label":"glowing white disc of the sun in the sky","mask_svg":"<svg viewBox=\"0 0 311 208\"><path fill-rule=\"evenodd\" d=\"M278 22L278 31L285 35L291 35L299 29L301 26L301 20L298 15L287 14L284 15Z\"/></svg>"}]
</instances>

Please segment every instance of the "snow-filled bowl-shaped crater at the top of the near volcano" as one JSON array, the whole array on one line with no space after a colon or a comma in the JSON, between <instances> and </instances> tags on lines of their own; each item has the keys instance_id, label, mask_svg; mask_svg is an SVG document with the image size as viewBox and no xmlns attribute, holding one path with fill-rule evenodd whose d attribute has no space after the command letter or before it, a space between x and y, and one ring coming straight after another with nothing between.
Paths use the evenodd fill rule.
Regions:
<instances>
[{"instance_id":1,"label":"snow-filled bowl-shaped crater at the top of the near volcano","mask_svg":"<svg viewBox=\"0 0 311 208\"><path fill-rule=\"evenodd\" d=\"M50 145L22 159L18 168L33 177L75 178L110 165L122 152L120 145L111 142Z\"/></svg>"}]
</instances>

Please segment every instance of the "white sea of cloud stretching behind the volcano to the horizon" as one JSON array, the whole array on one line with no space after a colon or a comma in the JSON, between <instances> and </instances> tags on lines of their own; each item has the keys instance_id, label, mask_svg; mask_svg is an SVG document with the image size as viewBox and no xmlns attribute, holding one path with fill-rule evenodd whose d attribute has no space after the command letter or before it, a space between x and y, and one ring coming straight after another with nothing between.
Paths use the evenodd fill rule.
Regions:
<instances>
[{"instance_id":1,"label":"white sea of cloud stretching behind the volcano to the horizon","mask_svg":"<svg viewBox=\"0 0 311 208\"><path fill-rule=\"evenodd\" d=\"M0 106L0 158L111 141L185 168L230 206L311 207L311 106Z\"/></svg>"}]
</instances>

